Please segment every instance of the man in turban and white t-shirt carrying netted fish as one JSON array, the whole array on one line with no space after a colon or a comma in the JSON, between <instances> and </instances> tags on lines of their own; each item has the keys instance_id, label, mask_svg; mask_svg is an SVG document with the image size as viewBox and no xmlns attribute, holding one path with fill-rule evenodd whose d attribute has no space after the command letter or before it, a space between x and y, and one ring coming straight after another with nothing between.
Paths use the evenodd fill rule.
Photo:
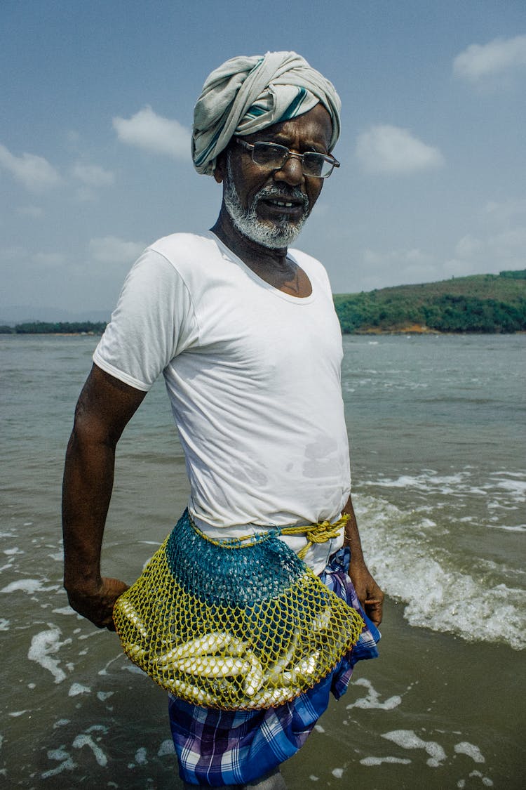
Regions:
<instances>
[{"instance_id":1,"label":"man in turban and white t-shirt carrying netted fish","mask_svg":"<svg viewBox=\"0 0 526 790\"><path fill-rule=\"evenodd\" d=\"M192 154L200 173L222 183L218 220L201 235L160 239L137 261L76 408L64 477L65 589L73 608L95 625L114 630L114 615L132 660L140 664L146 656L140 665L147 672L164 672L155 679L173 691L170 723L187 788L283 788L278 766L304 743L330 690L341 696L356 660L376 655L383 594L365 565L349 495L341 333L325 270L308 255L288 250L323 179L339 167L331 153L339 108L330 82L293 52L233 58L211 73L196 104ZM173 562L166 579L154 585L147 573L137 582L143 586L133 585L115 605L128 585L100 575L115 446L161 372L185 450L188 513L170 536L172 553L163 547L158 552L161 565ZM177 598L188 591L181 582L179 592L162 596L165 582L179 584L188 566L190 587L206 586L213 577L212 590L203 593L206 603L231 571L216 578L218 563L200 570L203 557L218 547L218 556L235 565L246 555L225 548L256 556L264 541L272 551L289 552L286 561L277 567L263 562L257 573L246 565L244 576L232 582L232 600L244 586L243 595L248 590L245 577L251 584L259 580L251 592L257 599L267 575L277 578L285 565L298 567L294 579L300 586L314 579L325 591L316 595L332 596L329 608L321 604L323 616L312 615L305 632L288 614L287 627L259 623L267 642L256 656L250 638L236 638L233 629L226 633L234 608L227 607L217 626L203 626L210 611L219 617L218 607L209 606L194 618L200 623L196 638L187 635L183 643L177 634L168 641L163 635L164 653L154 655L144 640L162 626L147 621L149 609L138 613L146 597L158 596L155 611L169 600L170 617L177 618ZM300 561L291 549L314 574L295 565ZM327 636L341 600L360 620L355 638L341 637L338 629ZM256 604L251 620L263 607L260 600ZM300 654L300 643L315 641L321 632L325 637L317 649ZM326 668L309 674L340 637L338 660L331 654ZM271 666L270 659L264 664L276 640L288 646ZM300 655L307 660L298 662ZM241 678L237 687L233 666ZM219 679L211 679L212 670ZM218 702L226 688L238 703Z\"/></svg>"}]
</instances>

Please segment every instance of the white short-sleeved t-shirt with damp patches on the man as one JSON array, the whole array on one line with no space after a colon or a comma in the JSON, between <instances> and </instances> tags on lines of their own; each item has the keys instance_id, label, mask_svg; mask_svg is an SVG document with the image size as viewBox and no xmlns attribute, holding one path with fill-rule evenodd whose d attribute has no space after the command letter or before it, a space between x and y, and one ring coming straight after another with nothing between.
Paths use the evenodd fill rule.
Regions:
<instances>
[{"instance_id":1,"label":"white short-sleeved t-shirt with damp patches on the man","mask_svg":"<svg viewBox=\"0 0 526 790\"><path fill-rule=\"evenodd\" d=\"M339 517L349 497L341 330L325 269L298 250L305 299L264 282L211 231L152 244L93 359L147 391L162 372L207 534ZM303 538L287 539L297 550ZM321 570L342 539L309 551Z\"/></svg>"}]
</instances>

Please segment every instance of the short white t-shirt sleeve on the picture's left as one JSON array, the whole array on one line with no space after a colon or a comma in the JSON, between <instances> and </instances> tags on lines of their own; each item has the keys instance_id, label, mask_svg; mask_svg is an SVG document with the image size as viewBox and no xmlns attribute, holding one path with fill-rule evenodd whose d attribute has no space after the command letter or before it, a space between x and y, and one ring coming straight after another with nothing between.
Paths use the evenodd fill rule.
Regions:
<instances>
[{"instance_id":1,"label":"short white t-shirt sleeve on the picture's left","mask_svg":"<svg viewBox=\"0 0 526 790\"><path fill-rule=\"evenodd\" d=\"M197 337L185 281L162 254L147 249L125 279L93 361L121 382L147 392L170 360Z\"/></svg>"}]
</instances>

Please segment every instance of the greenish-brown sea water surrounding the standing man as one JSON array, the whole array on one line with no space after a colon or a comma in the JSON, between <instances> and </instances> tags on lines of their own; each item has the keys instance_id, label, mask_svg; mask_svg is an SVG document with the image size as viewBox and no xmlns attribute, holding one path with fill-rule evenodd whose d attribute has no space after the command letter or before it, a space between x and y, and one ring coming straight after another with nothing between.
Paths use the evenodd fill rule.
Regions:
<instances>
[{"instance_id":1,"label":"greenish-brown sea water surrounding the standing man","mask_svg":"<svg viewBox=\"0 0 526 790\"><path fill-rule=\"evenodd\" d=\"M0 337L0 777L7 787L179 788L166 694L62 589L60 489L94 337ZM304 788L521 788L524 336L345 337L353 498L387 593L303 750ZM103 572L132 581L185 506L162 382L118 448Z\"/></svg>"}]
</instances>

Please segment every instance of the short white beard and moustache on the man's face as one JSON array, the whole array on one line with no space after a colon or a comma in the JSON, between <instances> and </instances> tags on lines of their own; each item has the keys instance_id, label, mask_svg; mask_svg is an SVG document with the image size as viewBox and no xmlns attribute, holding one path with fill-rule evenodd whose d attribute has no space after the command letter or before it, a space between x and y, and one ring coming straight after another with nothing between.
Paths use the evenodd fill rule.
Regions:
<instances>
[{"instance_id":1,"label":"short white beard and moustache on the man's face","mask_svg":"<svg viewBox=\"0 0 526 790\"><path fill-rule=\"evenodd\" d=\"M232 166L230 157L226 159L226 179L223 191L223 201L229 217L233 222L234 228L240 233L251 239L256 244L269 247L271 250L278 250L289 246L300 234L305 221L308 217L308 201L306 196L295 189L290 193L290 197L299 198L304 202L304 215L297 222L289 222L285 216L278 220L260 220L256 213L256 208L262 198L273 198L282 195L283 190L278 186L263 186L263 189L254 196L251 205L244 209L237 193L236 185L233 182Z\"/></svg>"}]
</instances>

